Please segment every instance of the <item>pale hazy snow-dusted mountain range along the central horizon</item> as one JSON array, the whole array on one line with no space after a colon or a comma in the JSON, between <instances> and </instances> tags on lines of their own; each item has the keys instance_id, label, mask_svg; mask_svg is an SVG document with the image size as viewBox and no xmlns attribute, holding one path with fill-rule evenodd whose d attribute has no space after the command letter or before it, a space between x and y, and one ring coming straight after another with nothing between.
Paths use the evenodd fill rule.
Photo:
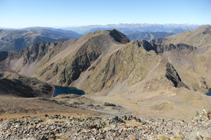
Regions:
<instances>
[{"instance_id":1,"label":"pale hazy snow-dusted mountain range along the central horizon","mask_svg":"<svg viewBox=\"0 0 211 140\"><path fill-rule=\"evenodd\" d=\"M65 30L72 30L80 34L95 32L97 30L117 29L123 34L134 32L173 32L182 33L185 30L192 30L200 25L196 24L108 24L108 25L89 25L81 27L66 27Z\"/></svg>"}]
</instances>

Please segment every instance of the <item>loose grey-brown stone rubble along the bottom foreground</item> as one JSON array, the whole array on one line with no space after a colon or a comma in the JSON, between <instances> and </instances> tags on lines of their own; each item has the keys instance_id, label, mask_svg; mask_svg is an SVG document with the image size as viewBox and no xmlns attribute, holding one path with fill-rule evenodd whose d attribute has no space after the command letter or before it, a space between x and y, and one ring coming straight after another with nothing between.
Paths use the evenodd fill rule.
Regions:
<instances>
[{"instance_id":1,"label":"loose grey-brown stone rubble along the bottom foreground","mask_svg":"<svg viewBox=\"0 0 211 140\"><path fill-rule=\"evenodd\" d=\"M160 139L209 140L211 120L196 113L191 121L142 119L133 116L84 117L48 116L5 120L0 139ZM209 114L208 114L209 116Z\"/></svg>"}]
</instances>

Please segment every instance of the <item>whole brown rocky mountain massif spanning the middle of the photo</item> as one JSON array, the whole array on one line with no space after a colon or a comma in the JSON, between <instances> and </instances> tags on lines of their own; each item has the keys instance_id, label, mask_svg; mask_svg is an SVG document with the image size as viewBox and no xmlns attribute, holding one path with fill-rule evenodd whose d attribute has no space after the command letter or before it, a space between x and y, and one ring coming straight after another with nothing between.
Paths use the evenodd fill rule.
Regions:
<instances>
[{"instance_id":1,"label":"whole brown rocky mountain massif spanning the middle of the photo","mask_svg":"<svg viewBox=\"0 0 211 140\"><path fill-rule=\"evenodd\" d=\"M169 38L130 41L114 29L1 51L1 79L10 72L74 86L147 117L188 116L209 106L204 93L211 85L210 30L202 26Z\"/></svg>"}]
</instances>

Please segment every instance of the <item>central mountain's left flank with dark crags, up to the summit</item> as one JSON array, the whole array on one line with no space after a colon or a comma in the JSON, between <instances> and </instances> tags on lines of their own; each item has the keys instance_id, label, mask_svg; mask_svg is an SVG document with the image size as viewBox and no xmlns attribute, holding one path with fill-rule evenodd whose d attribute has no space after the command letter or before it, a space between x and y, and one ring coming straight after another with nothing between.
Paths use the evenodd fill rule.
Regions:
<instances>
[{"instance_id":1,"label":"central mountain's left flank with dark crags, up to the summit","mask_svg":"<svg viewBox=\"0 0 211 140\"><path fill-rule=\"evenodd\" d=\"M71 48L74 47L74 51L69 51L67 54L69 48L66 48L62 52L64 53L62 59L56 61L56 63L52 59L34 74L39 77L46 77L45 80L50 80L55 84L70 85L95 60L111 51L113 49L111 45L115 42L117 44L127 43L129 40L116 30L87 34L71 46Z\"/></svg>"}]
</instances>

